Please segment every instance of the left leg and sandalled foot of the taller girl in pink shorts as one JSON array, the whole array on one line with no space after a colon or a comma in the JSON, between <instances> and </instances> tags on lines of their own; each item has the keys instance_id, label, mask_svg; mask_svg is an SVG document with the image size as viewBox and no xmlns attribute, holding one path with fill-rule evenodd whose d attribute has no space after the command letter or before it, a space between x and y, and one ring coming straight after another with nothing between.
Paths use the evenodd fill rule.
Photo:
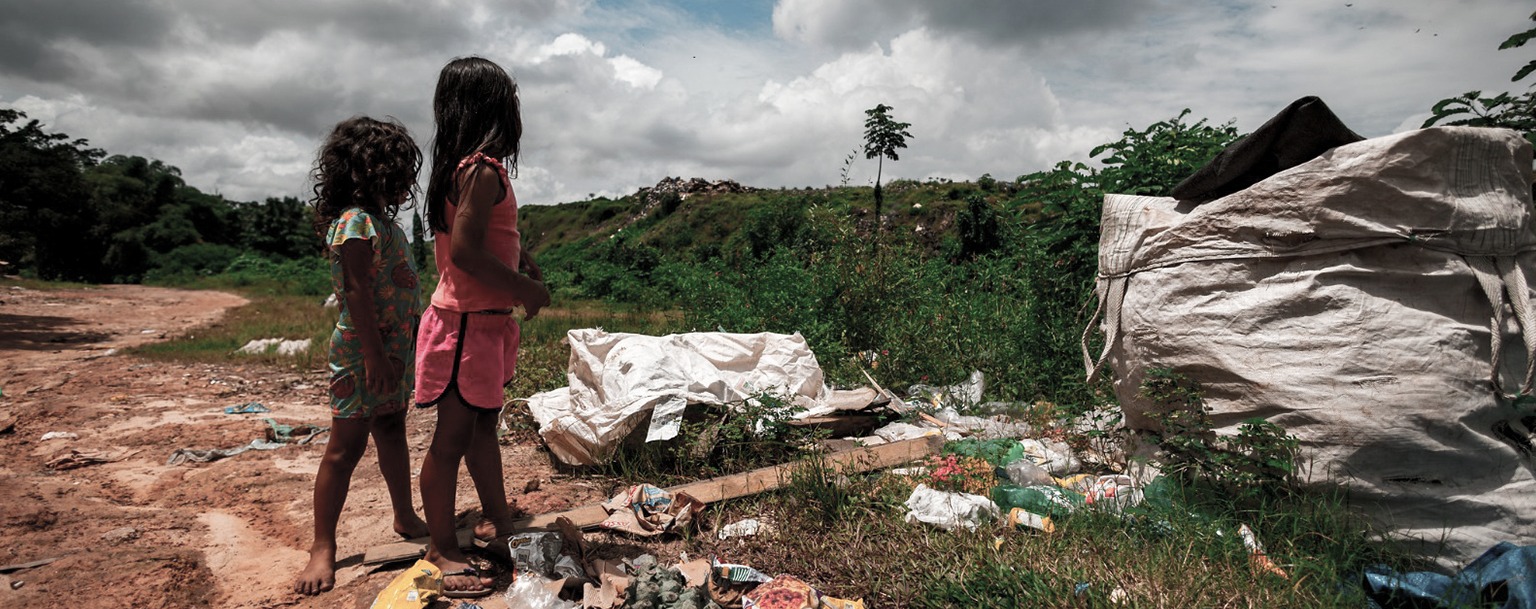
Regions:
<instances>
[{"instance_id":1,"label":"left leg and sandalled foot of the taller girl in pink shorts","mask_svg":"<svg viewBox=\"0 0 1536 609\"><path fill-rule=\"evenodd\" d=\"M438 403L438 431L421 464L421 511L427 514L427 561L442 572L462 571L468 566L459 551L458 532L453 526L453 503L458 492L459 460L475 440L476 414L459 403L456 397L444 397ZM445 591L470 591L490 586L490 578L475 581L467 575L442 578Z\"/></svg>"}]
</instances>

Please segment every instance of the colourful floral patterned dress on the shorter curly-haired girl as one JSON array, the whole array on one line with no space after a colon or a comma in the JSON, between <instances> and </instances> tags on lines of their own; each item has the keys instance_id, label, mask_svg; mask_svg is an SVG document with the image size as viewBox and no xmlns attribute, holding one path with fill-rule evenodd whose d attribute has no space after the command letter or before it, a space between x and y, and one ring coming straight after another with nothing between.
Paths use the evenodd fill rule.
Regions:
<instances>
[{"instance_id":1,"label":"colourful floral patterned dress on the shorter curly-haired girl","mask_svg":"<svg viewBox=\"0 0 1536 609\"><path fill-rule=\"evenodd\" d=\"M352 312L347 311L346 281L341 268L341 245L364 238L373 246L369 285L373 288L375 320L390 364L404 369L399 386L384 395L367 389L362 366L362 338ZM376 217L361 208L350 208L330 223L326 235L330 258L330 288L341 306L336 331L330 335L330 415L335 418L367 418L406 409L415 386L416 323L421 318L421 288L410 260L406 231L395 221Z\"/></svg>"}]
</instances>

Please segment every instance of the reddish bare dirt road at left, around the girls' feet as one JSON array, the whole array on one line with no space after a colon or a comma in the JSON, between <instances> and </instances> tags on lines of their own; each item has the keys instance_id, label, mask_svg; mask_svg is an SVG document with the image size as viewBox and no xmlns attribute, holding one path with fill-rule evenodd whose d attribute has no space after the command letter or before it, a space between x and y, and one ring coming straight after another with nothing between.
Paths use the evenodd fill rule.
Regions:
<instances>
[{"instance_id":1,"label":"reddish bare dirt road at left, around the girls' feet","mask_svg":"<svg viewBox=\"0 0 1536 609\"><path fill-rule=\"evenodd\" d=\"M321 597L298 597L289 584L307 557L324 435L306 446L166 464L181 448L263 438L263 418L329 424L319 371L118 352L195 332L243 303L146 286L0 288L0 428L14 420L0 431L0 566L57 558L0 575L0 607L367 607L395 575L356 564L367 547L396 540L372 446L343 514L336 591ZM247 401L272 412L223 412ZM413 466L432 435L430 412L409 421ZM43 440L49 432L75 437ZM121 460L49 466L71 451ZM504 458L515 495L531 478L544 481L538 497L522 498L533 512L602 495L579 481L551 483L538 446L505 446ZM459 504L475 504L467 475Z\"/></svg>"}]
</instances>

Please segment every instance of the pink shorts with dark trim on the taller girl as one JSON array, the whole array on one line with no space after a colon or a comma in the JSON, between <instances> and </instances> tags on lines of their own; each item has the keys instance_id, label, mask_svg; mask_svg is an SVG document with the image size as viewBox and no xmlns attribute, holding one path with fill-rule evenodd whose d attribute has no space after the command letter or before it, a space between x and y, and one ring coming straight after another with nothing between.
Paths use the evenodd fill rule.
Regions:
<instances>
[{"instance_id":1,"label":"pink shorts with dark trim on the taller girl","mask_svg":"<svg viewBox=\"0 0 1536 609\"><path fill-rule=\"evenodd\" d=\"M429 306L416 334L416 406L435 406L452 391L465 406L499 411L521 337L510 314Z\"/></svg>"}]
</instances>

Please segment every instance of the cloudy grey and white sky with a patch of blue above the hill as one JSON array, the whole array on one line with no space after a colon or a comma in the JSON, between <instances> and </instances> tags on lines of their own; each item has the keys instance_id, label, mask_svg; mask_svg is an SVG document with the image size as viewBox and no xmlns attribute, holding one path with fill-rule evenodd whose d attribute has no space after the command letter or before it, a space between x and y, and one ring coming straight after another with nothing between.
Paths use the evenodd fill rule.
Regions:
<instances>
[{"instance_id":1,"label":"cloudy grey and white sky with a patch of blue above the hill","mask_svg":"<svg viewBox=\"0 0 1536 609\"><path fill-rule=\"evenodd\" d=\"M518 80L522 205L667 175L839 183L877 103L886 175L1012 178L1192 109L1250 131L1319 95L1362 135L1513 91L1514 0L0 0L0 106L237 200L303 195L355 114L432 138L438 69ZM869 183L860 154L851 183Z\"/></svg>"}]
</instances>

